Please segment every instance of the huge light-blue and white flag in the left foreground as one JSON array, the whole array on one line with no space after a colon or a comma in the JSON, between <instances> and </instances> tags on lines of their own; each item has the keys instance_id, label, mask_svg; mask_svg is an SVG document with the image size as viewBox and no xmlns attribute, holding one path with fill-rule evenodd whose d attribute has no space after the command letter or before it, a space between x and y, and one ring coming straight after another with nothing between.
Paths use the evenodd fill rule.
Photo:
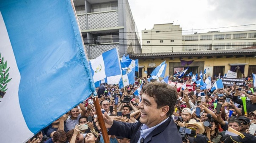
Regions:
<instances>
[{"instance_id":1,"label":"huge light-blue and white flag in the left foreground","mask_svg":"<svg viewBox=\"0 0 256 143\"><path fill-rule=\"evenodd\" d=\"M1 0L0 143L27 141L94 92L72 2Z\"/></svg>"}]
</instances>

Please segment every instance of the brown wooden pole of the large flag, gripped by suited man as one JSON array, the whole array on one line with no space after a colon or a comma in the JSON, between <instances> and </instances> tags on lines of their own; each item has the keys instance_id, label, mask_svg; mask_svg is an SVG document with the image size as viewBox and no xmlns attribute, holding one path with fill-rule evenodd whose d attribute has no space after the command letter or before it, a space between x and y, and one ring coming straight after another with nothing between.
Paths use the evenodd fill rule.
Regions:
<instances>
[{"instance_id":1,"label":"brown wooden pole of the large flag, gripped by suited man","mask_svg":"<svg viewBox=\"0 0 256 143\"><path fill-rule=\"evenodd\" d=\"M110 143L108 135L107 135L107 128L105 126L105 121L103 119L102 116L102 111L99 105L99 98L97 96L93 96L93 100L94 100L94 106L96 109L96 114L99 120L99 127L101 128L101 132L102 132L102 136L104 139L104 143Z\"/></svg>"}]
</instances>

